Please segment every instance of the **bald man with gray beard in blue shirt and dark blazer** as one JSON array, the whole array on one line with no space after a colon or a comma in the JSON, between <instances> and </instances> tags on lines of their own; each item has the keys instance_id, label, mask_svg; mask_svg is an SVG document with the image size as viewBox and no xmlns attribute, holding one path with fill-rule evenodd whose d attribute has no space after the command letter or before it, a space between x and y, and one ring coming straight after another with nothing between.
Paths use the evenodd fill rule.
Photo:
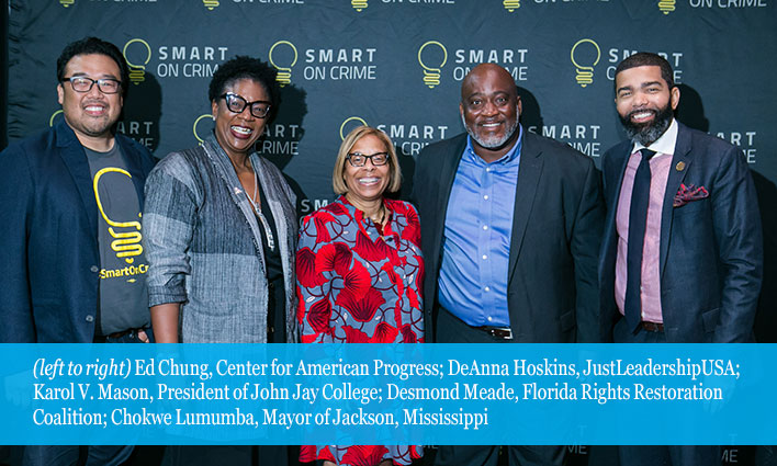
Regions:
<instances>
[{"instance_id":1,"label":"bald man with gray beard in blue shirt and dark blazer","mask_svg":"<svg viewBox=\"0 0 777 466\"><path fill-rule=\"evenodd\" d=\"M464 79L468 134L426 147L413 200L421 223L428 341L596 342L604 221L594 162L526 132L511 76ZM509 447L511 465L562 464L564 448ZM496 446L442 446L438 465L495 465Z\"/></svg>"}]
</instances>

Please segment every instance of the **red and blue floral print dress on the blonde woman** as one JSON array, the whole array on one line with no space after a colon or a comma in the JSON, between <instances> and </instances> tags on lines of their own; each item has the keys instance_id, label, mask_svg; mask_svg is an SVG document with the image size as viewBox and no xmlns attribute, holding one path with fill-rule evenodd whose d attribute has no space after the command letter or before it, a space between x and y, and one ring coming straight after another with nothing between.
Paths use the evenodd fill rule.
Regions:
<instances>
[{"instance_id":1,"label":"red and blue floral print dress on the blonde woman","mask_svg":"<svg viewBox=\"0 0 777 466\"><path fill-rule=\"evenodd\" d=\"M385 226L344 196L305 217L296 253L304 343L421 343L424 258L413 205L384 200ZM408 465L420 446L303 446L301 462Z\"/></svg>"}]
</instances>

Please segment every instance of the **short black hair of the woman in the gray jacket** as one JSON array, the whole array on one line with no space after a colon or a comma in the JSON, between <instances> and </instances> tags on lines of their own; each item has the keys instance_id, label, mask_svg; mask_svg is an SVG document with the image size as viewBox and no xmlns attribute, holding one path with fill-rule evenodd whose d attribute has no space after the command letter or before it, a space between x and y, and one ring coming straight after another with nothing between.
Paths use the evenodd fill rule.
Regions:
<instances>
[{"instance_id":1,"label":"short black hair of the woman in the gray jacket","mask_svg":"<svg viewBox=\"0 0 777 466\"><path fill-rule=\"evenodd\" d=\"M216 101L225 89L240 79L250 79L264 88L270 96L270 115L274 115L280 101L280 88L275 77L278 70L269 64L246 55L238 55L218 66L207 89L207 99Z\"/></svg>"}]
</instances>

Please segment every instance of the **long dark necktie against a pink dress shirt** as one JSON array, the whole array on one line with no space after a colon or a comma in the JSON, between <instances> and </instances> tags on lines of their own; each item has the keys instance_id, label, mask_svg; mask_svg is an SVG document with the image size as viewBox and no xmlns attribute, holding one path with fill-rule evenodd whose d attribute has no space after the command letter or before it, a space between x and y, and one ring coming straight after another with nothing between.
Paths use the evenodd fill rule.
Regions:
<instances>
[{"instance_id":1,"label":"long dark necktie against a pink dress shirt","mask_svg":"<svg viewBox=\"0 0 777 466\"><path fill-rule=\"evenodd\" d=\"M626 259L626 302L623 314L631 332L639 330L642 321L642 248L645 242L645 224L650 201L650 159L654 150L642 149L642 160L634 174L629 211L629 249Z\"/></svg>"}]
</instances>

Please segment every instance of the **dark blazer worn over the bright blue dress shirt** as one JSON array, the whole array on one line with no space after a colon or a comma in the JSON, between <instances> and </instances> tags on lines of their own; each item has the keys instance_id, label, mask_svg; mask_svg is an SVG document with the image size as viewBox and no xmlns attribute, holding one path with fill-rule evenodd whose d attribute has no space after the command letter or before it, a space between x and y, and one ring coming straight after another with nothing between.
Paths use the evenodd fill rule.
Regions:
<instances>
[{"instance_id":1,"label":"dark blazer worn over the bright blue dress shirt","mask_svg":"<svg viewBox=\"0 0 777 466\"><path fill-rule=\"evenodd\" d=\"M527 130L522 137L508 269L514 341L597 342L596 268L605 215L598 171L565 144ZM427 341L435 338L448 200L465 147L465 134L427 146L416 166Z\"/></svg>"}]
</instances>

